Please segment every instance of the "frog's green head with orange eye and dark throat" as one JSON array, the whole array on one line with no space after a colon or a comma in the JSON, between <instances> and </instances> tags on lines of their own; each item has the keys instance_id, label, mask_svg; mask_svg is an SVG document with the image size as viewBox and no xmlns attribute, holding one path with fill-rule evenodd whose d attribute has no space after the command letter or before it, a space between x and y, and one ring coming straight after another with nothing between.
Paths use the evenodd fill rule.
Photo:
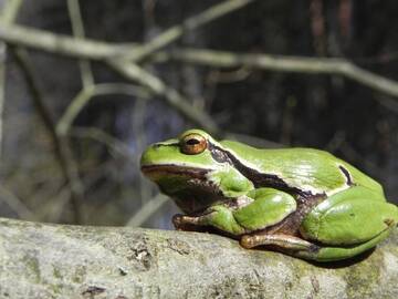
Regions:
<instances>
[{"instance_id":1,"label":"frog's green head with orange eye and dark throat","mask_svg":"<svg viewBox=\"0 0 398 299\"><path fill-rule=\"evenodd\" d=\"M143 173L188 214L253 187L234 168L226 148L201 130L189 130L178 138L150 145L140 165Z\"/></svg>"}]
</instances>

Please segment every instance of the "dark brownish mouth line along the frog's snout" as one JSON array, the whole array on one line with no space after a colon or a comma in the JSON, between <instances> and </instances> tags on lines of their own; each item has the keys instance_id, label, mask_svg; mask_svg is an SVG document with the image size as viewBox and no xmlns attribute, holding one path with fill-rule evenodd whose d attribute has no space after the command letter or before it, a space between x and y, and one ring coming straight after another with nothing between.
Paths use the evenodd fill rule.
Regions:
<instances>
[{"instance_id":1,"label":"dark brownish mouth line along the frog's snout","mask_svg":"<svg viewBox=\"0 0 398 299\"><path fill-rule=\"evenodd\" d=\"M178 176L189 176L191 178L203 178L210 169L174 164L159 164L144 165L142 166L142 172L148 177L171 174Z\"/></svg>"}]
</instances>

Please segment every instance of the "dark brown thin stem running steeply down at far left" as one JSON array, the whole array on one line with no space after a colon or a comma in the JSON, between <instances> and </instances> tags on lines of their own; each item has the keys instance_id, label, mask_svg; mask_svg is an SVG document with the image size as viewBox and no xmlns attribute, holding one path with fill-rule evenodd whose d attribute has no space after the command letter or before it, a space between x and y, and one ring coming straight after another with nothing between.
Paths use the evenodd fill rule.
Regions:
<instances>
[{"instance_id":1,"label":"dark brown thin stem running steeply down at far left","mask_svg":"<svg viewBox=\"0 0 398 299\"><path fill-rule=\"evenodd\" d=\"M78 177L78 171L76 162L70 148L67 140L60 137L55 132L55 124L51 117L51 113L44 104L43 96L35 81L33 66L29 61L28 53L22 49L12 49L12 54L15 58L18 65L20 66L24 80L32 95L32 101L35 110L44 123L44 127L48 130L51 141L54 146L55 156L60 163L61 171L65 181L71 189L71 204L73 208L74 223L83 223L83 215L81 213L81 206L83 200L84 187Z\"/></svg>"}]
</instances>

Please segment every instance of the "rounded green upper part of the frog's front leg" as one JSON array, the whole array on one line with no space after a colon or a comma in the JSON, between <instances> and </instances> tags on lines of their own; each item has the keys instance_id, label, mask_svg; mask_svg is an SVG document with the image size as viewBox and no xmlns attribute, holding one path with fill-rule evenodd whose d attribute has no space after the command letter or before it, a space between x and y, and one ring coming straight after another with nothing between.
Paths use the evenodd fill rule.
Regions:
<instances>
[{"instance_id":1,"label":"rounded green upper part of the frog's front leg","mask_svg":"<svg viewBox=\"0 0 398 299\"><path fill-rule=\"evenodd\" d=\"M233 212L237 221L249 231L277 224L296 209L293 196L274 188L259 188L249 196L254 200Z\"/></svg>"}]
</instances>

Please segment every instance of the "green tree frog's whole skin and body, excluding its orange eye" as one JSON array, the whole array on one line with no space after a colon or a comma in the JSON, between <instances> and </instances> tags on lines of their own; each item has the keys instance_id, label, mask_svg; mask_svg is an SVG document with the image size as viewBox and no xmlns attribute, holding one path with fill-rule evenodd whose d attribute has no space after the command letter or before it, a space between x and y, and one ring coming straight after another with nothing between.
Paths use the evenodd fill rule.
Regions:
<instances>
[{"instance_id":1,"label":"green tree frog's whole skin and body, excluding its orange eye","mask_svg":"<svg viewBox=\"0 0 398 299\"><path fill-rule=\"evenodd\" d=\"M181 152L191 134L206 138L203 152ZM398 223L377 182L318 150L259 150L189 130L150 145L140 163L186 213L174 217L177 229L211 227L245 248L339 260L373 248Z\"/></svg>"}]
</instances>

